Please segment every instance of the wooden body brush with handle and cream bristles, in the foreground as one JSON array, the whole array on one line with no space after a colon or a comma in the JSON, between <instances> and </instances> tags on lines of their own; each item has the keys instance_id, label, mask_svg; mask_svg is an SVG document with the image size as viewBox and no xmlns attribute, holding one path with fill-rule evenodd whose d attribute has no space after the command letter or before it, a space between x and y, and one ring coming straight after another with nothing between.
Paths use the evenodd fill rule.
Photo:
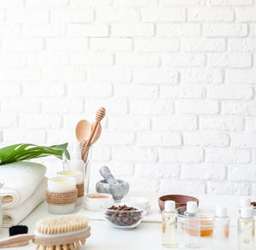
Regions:
<instances>
[{"instance_id":1,"label":"wooden body brush with handle and cream bristles, in the foreground","mask_svg":"<svg viewBox=\"0 0 256 250\"><path fill-rule=\"evenodd\" d=\"M80 215L43 218L38 221L33 235L10 236L0 241L0 248L20 247L32 240L36 249L73 250L85 244L90 236L88 218Z\"/></svg>"}]
</instances>

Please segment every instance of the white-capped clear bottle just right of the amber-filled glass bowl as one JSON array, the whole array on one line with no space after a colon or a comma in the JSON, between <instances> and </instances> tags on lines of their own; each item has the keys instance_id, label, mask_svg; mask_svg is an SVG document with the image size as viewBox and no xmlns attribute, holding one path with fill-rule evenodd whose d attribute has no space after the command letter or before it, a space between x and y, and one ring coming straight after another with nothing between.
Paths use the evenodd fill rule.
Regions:
<instances>
[{"instance_id":1,"label":"white-capped clear bottle just right of the amber-filled glass bowl","mask_svg":"<svg viewBox=\"0 0 256 250\"><path fill-rule=\"evenodd\" d=\"M230 218L227 207L217 206L214 218L213 249L229 249Z\"/></svg>"}]
</instances>

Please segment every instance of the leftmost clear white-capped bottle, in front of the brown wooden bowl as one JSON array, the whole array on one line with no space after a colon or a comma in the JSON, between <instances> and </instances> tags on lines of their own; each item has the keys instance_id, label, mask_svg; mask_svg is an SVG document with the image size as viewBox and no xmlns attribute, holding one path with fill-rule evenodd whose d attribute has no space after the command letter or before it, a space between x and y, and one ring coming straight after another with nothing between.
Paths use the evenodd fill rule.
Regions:
<instances>
[{"instance_id":1,"label":"leftmost clear white-capped bottle, in front of the brown wooden bowl","mask_svg":"<svg viewBox=\"0 0 256 250\"><path fill-rule=\"evenodd\" d=\"M162 212L162 246L177 247L177 210L175 201L166 201Z\"/></svg>"}]
</instances>

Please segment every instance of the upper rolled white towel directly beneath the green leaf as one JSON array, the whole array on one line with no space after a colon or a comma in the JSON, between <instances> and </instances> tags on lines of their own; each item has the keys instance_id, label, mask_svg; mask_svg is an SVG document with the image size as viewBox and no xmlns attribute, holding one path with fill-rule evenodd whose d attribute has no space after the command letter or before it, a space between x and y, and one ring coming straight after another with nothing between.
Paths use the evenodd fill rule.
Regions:
<instances>
[{"instance_id":1,"label":"upper rolled white towel directly beneath the green leaf","mask_svg":"<svg viewBox=\"0 0 256 250\"><path fill-rule=\"evenodd\" d=\"M0 189L3 209L20 206L44 179L46 167L30 161L17 161L0 166Z\"/></svg>"}]
</instances>

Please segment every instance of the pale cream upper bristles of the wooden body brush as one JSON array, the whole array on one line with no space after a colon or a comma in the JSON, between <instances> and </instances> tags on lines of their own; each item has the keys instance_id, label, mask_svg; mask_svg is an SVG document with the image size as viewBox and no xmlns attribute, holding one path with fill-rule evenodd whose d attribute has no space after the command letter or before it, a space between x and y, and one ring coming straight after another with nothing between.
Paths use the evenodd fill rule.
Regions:
<instances>
[{"instance_id":1,"label":"pale cream upper bristles of the wooden body brush","mask_svg":"<svg viewBox=\"0 0 256 250\"><path fill-rule=\"evenodd\" d=\"M67 215L39 220L37 231L41 234L54 235L83 230L87 225L88 218L79 215Z\"/></svg>"}]
</instances>

